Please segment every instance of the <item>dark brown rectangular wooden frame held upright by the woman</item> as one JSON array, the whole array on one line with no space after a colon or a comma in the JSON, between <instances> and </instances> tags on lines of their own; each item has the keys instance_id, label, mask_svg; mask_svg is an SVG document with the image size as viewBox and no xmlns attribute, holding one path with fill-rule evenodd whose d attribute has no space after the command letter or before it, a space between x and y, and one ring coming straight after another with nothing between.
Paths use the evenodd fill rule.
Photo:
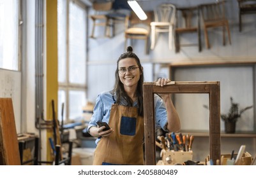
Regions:
<instances>
[{"instance_id":1,"label":"dark brown rectangular wooden frame held upright by the woman","mask_svg":"<svg viewBox=\"0 0 256 178\"><path fill-rule=\"evenodd\" d=\"M155 82L143 84L144 133L146 165L155 165L154 93L208 93L209 94L209 152L216 163L220 160L220 82L176 81L174 85L156 86ZM154 160L153 160L154 159Z\"/></svg>"}]
</instances>

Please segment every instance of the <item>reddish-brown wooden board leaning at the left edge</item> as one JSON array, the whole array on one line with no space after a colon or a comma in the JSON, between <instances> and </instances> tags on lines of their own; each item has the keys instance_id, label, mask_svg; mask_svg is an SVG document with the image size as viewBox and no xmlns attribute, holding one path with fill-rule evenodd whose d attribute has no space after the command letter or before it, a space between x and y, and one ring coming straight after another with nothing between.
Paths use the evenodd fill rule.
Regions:
<instances>
[{"instance_id":1,"label":"reddish-brown wooden board leaning at the left edge","mask_svg":"<svg viewBox=\"0 0 256 178\"><path fill-rule=\"evenodd\" d=\"M0 163L20 165L19 144L10 98L0 99Z\"/></svg>"}]
</instances>

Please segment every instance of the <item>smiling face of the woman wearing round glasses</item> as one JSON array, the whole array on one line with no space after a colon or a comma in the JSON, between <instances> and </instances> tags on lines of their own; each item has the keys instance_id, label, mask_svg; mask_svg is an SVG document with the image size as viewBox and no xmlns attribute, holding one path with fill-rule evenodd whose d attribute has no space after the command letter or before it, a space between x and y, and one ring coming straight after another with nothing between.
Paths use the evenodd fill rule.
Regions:
<instances>
[{"instance_id":1,"label":"smiling face of the woman wearing round glasses","mask_svg":"<svg viewBox=\"0 0 256 178\"><path fill-rule=\"evenodd\" d=\"M118 74L124 89L137 88L140 79L140 69L135 58L123 58L118 64Z\"/></svg>"}]
</instances>

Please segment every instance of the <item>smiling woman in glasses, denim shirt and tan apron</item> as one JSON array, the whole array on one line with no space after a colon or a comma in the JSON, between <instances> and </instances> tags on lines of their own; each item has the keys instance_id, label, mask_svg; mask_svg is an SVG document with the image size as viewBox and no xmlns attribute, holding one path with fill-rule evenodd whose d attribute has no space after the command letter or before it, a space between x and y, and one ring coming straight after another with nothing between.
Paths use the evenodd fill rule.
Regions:
<instances>
[{"instance_id":1,"label":"smiling woman in glasses, denim shirt and tan apron","mask_svg":"<svg viewBox=\"0 0 256 178\"><path fill-rule=\"evenodd\" d=\"M96 99L88 132L96 139L94 165L144 165L143 139L143 67L128 46L117 60L114 89L102 92ZM170 79L160 78L164 86ZM180 121L170 94L154 95L156 127L179 132ZM98 127L97 121L109 123L110 129Z\"/></svg>"}]
</instances>

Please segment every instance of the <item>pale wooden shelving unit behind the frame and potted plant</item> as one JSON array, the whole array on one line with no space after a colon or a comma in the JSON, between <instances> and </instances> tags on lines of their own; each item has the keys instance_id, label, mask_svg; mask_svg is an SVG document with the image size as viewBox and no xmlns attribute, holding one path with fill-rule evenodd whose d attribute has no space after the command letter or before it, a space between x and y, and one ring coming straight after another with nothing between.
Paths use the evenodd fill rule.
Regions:
<instances>
[{"instance_id":1,"label":"pale wooden shelving unit behind the frame and potted plant","mask_svg":"<svg viewBox=\"0 0 256 178\"><path fill-rule=\"evenodd\" d=\"M253 104L253 109L248 111L248 115L245 116L245 118L241 118L242 121L237 124L236 133L226 134L223 130L220 132L222 154L231 153L232 150L237 153L242 144L246 145L246 151L248 151L248 153L252 155L256 154L255 67L255 60L246 59L174 62L168 67L169 78L172 79L172 81L220 81L221 113L227 112L225 109L229 108L230 103L227 99L229 99L230 96L236 96L236 101L239 102L242 107ZM225 74L223 71L228 72L229 75ZM237 83L237 81L240 82ZM239 87L237 87L238 85ZM193 159L195 159L195 161L203 161L209 154L208 147L210 147L210 142L208 142L209 130L207 129L209 123L207 123L207 119L203 119L207 116L207 114L204 114L206 110L202 109L203 104L205 104L205 98L200 100L199 97L194 96L195 95L175 95L173 101L176 104L178 112L186 111L184 113L191 113L191 115L181 113L181 115L183 115L182 118L184 118L184 120L182 120L183 125L181 125L181 133L195 136L193 143ZM193 104L188 107L188 103L190 102L193 102ZM191 107L193 109L190 109ZM196 112L197 114L193 114ZM198 125L198 123L200 123L200 125Z\"/></svg>"}]
</instances>

